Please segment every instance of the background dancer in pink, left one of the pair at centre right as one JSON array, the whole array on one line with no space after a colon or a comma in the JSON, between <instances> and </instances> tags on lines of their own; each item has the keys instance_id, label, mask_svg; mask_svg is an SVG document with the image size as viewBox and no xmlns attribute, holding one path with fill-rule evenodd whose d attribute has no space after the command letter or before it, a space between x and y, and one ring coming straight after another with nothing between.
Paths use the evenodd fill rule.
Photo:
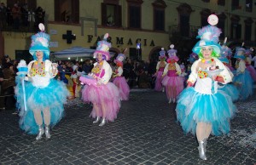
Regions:
<instances>
[{"instance_id":1,"label":"background dancer in pink, left one of the pair at centre right","mask_svg":"<svg viewBox=\"0 0 256 165\"><path fill-rule=\"evenodd\" d=\"M163 79L162 75L167 64L165 48L161 48L161 51L159 54L160 54L159 56L160 61L156 65L156 73L155 73L156 80L155 80L154 90L165 92L165 87L163 87L162 85L162 79Z\"/></svg>"}]
</instances>

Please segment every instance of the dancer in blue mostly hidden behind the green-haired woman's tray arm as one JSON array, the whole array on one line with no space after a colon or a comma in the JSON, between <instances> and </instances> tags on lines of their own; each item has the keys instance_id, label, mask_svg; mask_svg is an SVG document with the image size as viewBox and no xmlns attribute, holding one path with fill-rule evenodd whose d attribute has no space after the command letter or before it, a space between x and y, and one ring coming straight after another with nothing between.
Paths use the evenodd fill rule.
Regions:
<instances>
[{"instance_id":1,"label":"dancer in blue mostly hidden behind the green-haired woman's tray arm","mask_svg":"<svg viewBox=\"0 0 256 165\"><path fill-rule=\"evenodd\" d=\"M228 57L232 56L232 51L229 47L227 47L225 45L226 43L226 38L225 38L225 42L221 47L221 52L220 52L220 57L218 57L218 60L220 60L225 67L227 68L227 70L230 72L230 76L231 78L234 77L232 71L230 71L230 60L228 59ZM218 83L218 89L224 91L226 94L229 94L232 101L236 101L239 99L239 90L236 88L236 86L233 83Z\"/></svg>"}]
</instances>

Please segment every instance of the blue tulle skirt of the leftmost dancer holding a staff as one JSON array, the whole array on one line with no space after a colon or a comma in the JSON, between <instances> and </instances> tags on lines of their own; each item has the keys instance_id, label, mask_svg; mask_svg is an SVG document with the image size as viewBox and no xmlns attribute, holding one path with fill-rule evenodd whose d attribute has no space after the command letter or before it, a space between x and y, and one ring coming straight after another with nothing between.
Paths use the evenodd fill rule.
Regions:
<instances>
[{"instance_id":1,"label":"blue tulle skirt of the leftmost dancer holding a staff","mask_svg":"<svg viewBox=\"0 0 256 165\"><path fill-rule=\"evenodd\" d=\"M67 102L67 96L69 96L65 83L51 79L47 87L37 88L32 83L25 81L27 107L27 111L25 111L24 92L19 79L16 77L15 94L17 108L20 109L20 128L27 134L38 134L38 125L34 119L33 110L42 111L46 107L49 107L50 111L50 126L55 126L64 115L63 104Z\"/></svg>"}]
</instances>

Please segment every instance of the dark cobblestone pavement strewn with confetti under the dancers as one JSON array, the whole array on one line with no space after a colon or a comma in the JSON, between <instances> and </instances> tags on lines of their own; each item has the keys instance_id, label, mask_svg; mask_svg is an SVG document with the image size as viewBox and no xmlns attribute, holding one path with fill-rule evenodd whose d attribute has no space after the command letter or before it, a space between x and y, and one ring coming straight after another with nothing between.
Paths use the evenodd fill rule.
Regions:
<instances>
[{"instance_id":1,"label":"dark cobblestone pavement strewn with confetti under the dancers","mask_svg":"<svg viewBox=\"0 0 256 165\"><path fill-rule=\"evenodd\" d=\"M91 107L68 100L51 139L23 133L12 111L0 111L0 164L256 164L256 97L237 102L229 135L210 136L207 161L193 135L183 134L166 95L134 90L115 122L99 127Z\"/></svg>"}]
</instances>

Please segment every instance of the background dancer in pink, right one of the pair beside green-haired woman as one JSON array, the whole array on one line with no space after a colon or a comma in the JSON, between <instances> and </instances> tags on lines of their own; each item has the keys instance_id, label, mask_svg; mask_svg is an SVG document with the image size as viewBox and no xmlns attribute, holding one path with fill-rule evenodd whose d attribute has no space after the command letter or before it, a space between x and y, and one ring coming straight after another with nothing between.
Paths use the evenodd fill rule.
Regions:
<instances>
[{"instance_id":1,"label":"background dancer in pink, right one of the pair beside green-haired woman","mask_svg":"<svg viewBox=\"0 0 256 165\"><path fill-rule=\"evenodd\" d=\"M168 50L169 58L167 59L167 65L164 69L162 84L166 87L166 96L169 103L173 101L176 102L177 95L183 91L183 77L179 77L181 74L181 68L177 64L179 60L176 53L177 50L174 49L174 45L170 46L171 49Z\"/></svg>"}]
</instances>

